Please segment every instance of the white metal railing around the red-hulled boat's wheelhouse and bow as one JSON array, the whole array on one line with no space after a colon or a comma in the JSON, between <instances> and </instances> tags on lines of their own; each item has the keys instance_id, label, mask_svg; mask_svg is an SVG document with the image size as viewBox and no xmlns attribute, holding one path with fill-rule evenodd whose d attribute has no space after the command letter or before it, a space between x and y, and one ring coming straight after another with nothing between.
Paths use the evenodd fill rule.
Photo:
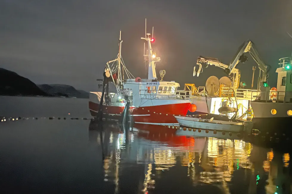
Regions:
<instances>
[{"instance_id":1,"label":"white metal railing around the red-hulled boat's wheelhouse and bow","mask_svg":"<svg viewBox=\"0 0 292 194\"><path fill-rule=\"evenodd\" d=\"M188 100L190 99L191 91L185 90L163 90L161 92L157 90L140 90L140 98L141 99L182 99Z\"/></svg>"}]
</instances>

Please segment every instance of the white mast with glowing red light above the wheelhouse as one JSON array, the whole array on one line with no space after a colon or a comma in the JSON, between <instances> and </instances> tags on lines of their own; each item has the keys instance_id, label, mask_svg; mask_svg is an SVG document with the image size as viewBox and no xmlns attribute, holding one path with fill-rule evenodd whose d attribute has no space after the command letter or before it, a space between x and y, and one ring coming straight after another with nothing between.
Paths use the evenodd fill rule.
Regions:
<instances>
[{"instance_id":1,"label":"white mast with glowing red light above the wheelhouse","mask_svg":"<svg viewBox=\"0 0 292 194\"><path fill-rule=\"evenodd\" d=\"M152 38L150 38L150 35L151 34L147 34L146 33L147 29L146 29L146 19L145 19L145 38L141 38L141 39L144 39L147 41L147 44L148 44L148 51L147 52L147 55L145 55L144 53L144 57L148 57L148 60L149 60L149 66L148 66L148 79L157 79L157 76L156 76L156 70L155 70L155 62L158 62L160 61L160 57L156 57L156 54L153 53L153 50L152 50L152 46L151 46L151 42L154 42L154 38L153 38L153 35L152 35ZM152 34L153 34L153 28L152 28Z\"/></svg>"}]
</instances>

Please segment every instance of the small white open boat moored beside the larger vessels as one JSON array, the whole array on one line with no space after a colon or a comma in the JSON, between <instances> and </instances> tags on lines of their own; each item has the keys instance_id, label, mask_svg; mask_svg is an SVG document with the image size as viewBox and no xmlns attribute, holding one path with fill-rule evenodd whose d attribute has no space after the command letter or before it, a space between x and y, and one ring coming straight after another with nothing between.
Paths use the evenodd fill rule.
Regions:
<instances>
[{"instance_id":1,"label":"small white open boat moored beside the larger vessels","mask_svg":"<svg viewBox=\"0 0 292 194\"><path fill-rule=\"evenodd\" d=\"M201 118L192 118L192 117L182 117L175 116L181 127L195 128L195 129L208 129L224 132L242 132L242 131L251 131L252 122L244 121L233 122L233 121L218 121L211 119L201 119Z\"/></svg>"}]
</instances>

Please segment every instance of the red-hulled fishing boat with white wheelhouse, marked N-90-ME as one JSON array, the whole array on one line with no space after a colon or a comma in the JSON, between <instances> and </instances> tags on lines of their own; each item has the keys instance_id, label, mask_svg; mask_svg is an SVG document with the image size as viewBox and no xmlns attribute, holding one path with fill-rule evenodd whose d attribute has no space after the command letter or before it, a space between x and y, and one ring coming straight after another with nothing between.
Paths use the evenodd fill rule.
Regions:
<instances>
[{"instance_id":1,"label":"red-hulled fishing boat with white wheelhouse, marked N-90-ME","mask_svg":"<svg viewBox=\"0 0 292 194\"><path fill-rule=\"evenodd\" d=\"M134 77L125 66L121 56L122 40L121 31L119 37L119 53L115 60L106 63L103 83L105 89L104 98L102 92L90 92L89 110L92 116L97 116L102 111L104 117L119 118L125 109L125 102L129 102L129 112L135 123L151 125L178 125L174 116L185 116L192 106L190 92L177 90L179 83L174 81L162 81L165 71L160 71L161 80L156 76L156 62L160 57L152 49L155 41L149 33L146 33L144 40L144 59L148 62L148 78L141 79ZM145 50L145 43L147 48ZM125 77L127 79L125 79ZM109 91L110 85L112 91ZM102 99L102 100L101 100ZM102 108L100 107L102 102Z\"/></svg>"}]
</instances>

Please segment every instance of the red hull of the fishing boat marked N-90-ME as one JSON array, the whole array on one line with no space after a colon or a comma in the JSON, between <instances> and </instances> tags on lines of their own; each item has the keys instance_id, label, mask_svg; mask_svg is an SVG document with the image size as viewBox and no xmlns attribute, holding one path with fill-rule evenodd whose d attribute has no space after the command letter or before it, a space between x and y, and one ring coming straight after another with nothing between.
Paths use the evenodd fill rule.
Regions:
<instances>
[{"instance_id":1,"label":"red hull of the fishing boat marked N-90-ME","mask_svg":"<svg viewBox=\"0 0 292 194\"><path fill-rule=\"evenodd\" d=\"M89 109L92 116L97 116L99 104L89 101ZM134 122L154 125L167 125L178 123L175 116L186 116L190 102L180 104L165 104L148 107L130 107ZM102 112L112 115L121 115L124 107L103 106Z\"/></svg>"}]
</instances>

